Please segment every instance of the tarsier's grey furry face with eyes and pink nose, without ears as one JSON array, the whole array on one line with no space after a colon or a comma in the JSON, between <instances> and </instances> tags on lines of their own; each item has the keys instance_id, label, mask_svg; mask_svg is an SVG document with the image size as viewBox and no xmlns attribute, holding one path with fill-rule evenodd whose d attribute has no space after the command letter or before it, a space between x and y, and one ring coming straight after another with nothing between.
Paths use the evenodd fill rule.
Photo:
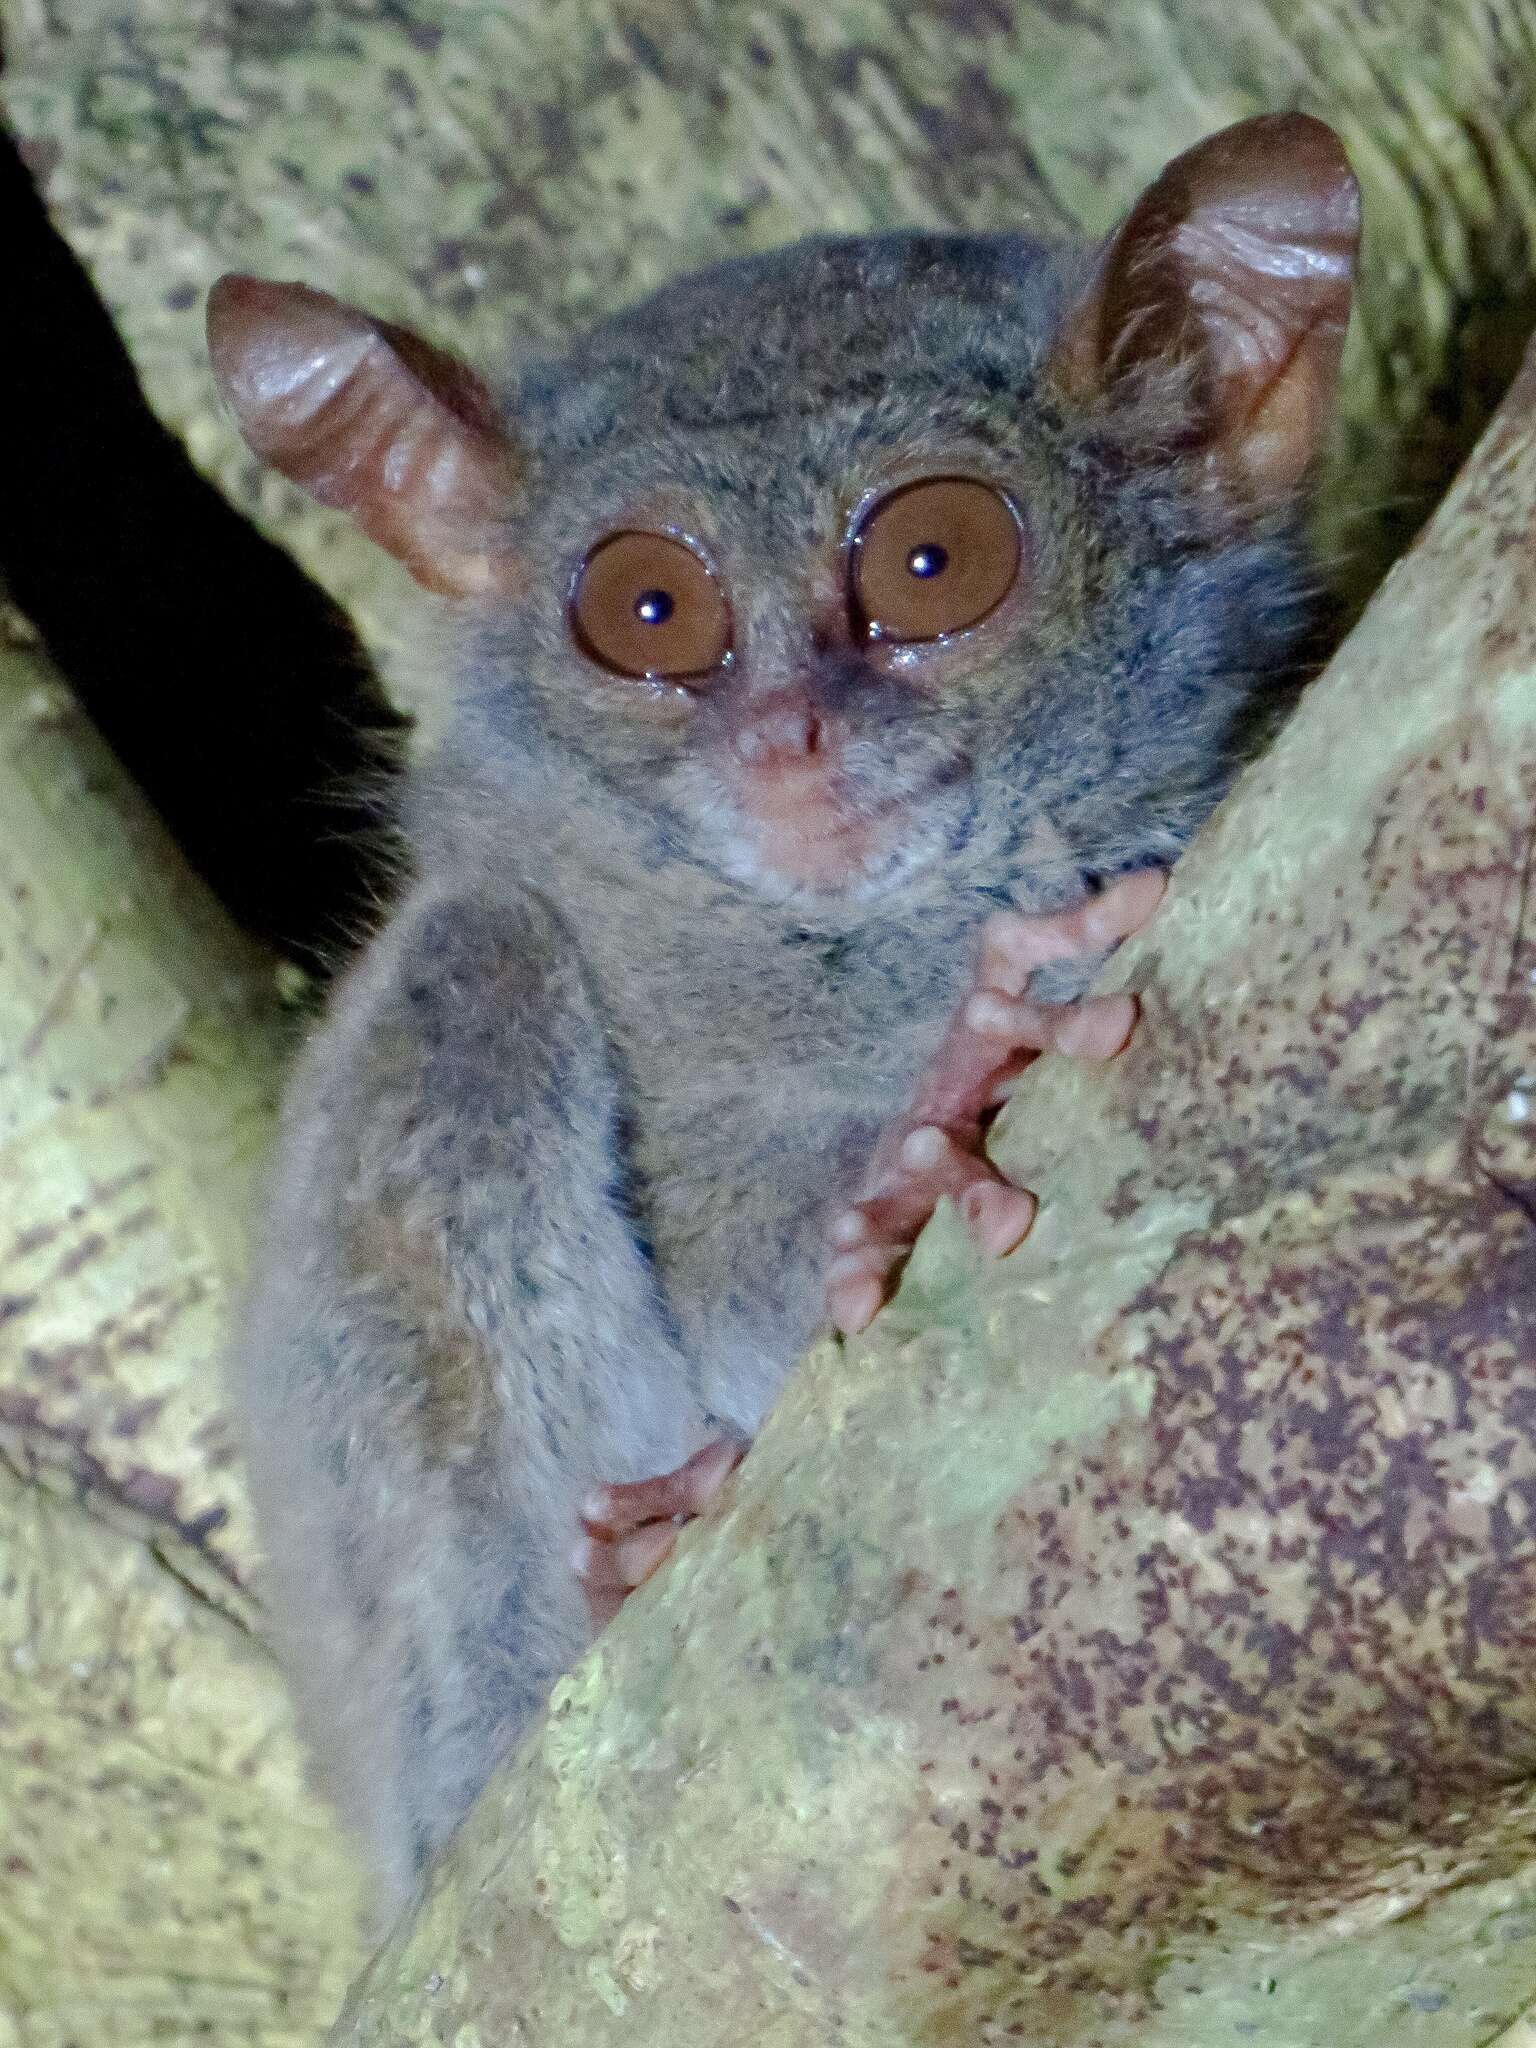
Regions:
<instances>
[{"instance_id":1,"label":"tarsier's grey furry face with eyes and pink nose, without ears","mask_svg":"<svg viewBox=\"0 0 1536 2048\"><path fill-rule=\"evenodd\" d=\"M735 281L748 307L762 293ZM711 870L864 897L971 829L979 758L1063 641L1083 563L1034 422L952 336L948 365L938 342L913 360L942 293L864 305L852 365L846 297L842 317L807 297L756 307L756 346L702 322L649 387L575 367L547 422L528 410L528 590L481 692L500 668L520 715Z\"/></svg>"}]
</instances>

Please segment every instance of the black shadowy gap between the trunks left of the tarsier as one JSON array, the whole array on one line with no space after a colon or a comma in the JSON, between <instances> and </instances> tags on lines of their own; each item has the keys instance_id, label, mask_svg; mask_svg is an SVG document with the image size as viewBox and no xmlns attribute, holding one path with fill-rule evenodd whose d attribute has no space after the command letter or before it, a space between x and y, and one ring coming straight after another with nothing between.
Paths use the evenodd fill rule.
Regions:
<instances>
[{"instance_id":1,"label":"black shadowy gap between the trunks left of the tarsier","mask_svg":"<svg viewBox=\"0 0 1536 2048\"><path fill-rule=\"evenodd\" d=\"M373 918L369 791L403 721L346 616L154 418L4 133L0 225L0 584L240 924L328 971Z\"/></svg>"}]
</instances>

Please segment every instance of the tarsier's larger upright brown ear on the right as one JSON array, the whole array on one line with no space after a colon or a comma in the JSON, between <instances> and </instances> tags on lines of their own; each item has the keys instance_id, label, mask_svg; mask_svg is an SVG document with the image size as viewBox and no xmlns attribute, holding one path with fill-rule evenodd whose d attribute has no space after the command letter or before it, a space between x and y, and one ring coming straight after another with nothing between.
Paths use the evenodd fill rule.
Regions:
<instances>
[{"instance_id":1,"label":"tarsier's larger upright brown ear on the right","mask_svg":"<svg viewBox=\"0 0 1536 2048\"><path fill-rule=\"evenodd\" d=\"M1284 494L1319 453L1360 248L1360 186L1309 115L1260 115L1176 158L1100 254L1053 371L1094 399L1184 365L1184 440L1212 481Z\"/></svg>"}]
</instances>

